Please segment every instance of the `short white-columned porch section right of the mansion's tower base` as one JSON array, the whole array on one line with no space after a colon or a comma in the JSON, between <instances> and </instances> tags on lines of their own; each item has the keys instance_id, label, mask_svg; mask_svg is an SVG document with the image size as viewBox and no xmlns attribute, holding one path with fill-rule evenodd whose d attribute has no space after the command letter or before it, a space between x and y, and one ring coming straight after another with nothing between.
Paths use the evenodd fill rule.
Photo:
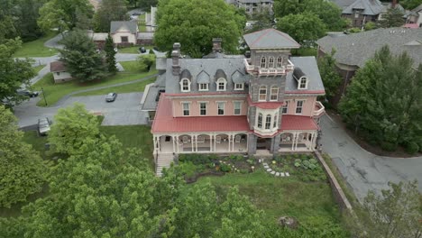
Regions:
<instances>
[{"instance_id":1,"label":"short white-columned porch section right of the mansion's tower base","mask_svg":"<svg viewBox=\"0 0 422 238\"><path fill-rule=\"evenodd\" d=\"M283 132L280 134L279 152L315 151L316 131Z\"/></svg>"}]
</instances>

